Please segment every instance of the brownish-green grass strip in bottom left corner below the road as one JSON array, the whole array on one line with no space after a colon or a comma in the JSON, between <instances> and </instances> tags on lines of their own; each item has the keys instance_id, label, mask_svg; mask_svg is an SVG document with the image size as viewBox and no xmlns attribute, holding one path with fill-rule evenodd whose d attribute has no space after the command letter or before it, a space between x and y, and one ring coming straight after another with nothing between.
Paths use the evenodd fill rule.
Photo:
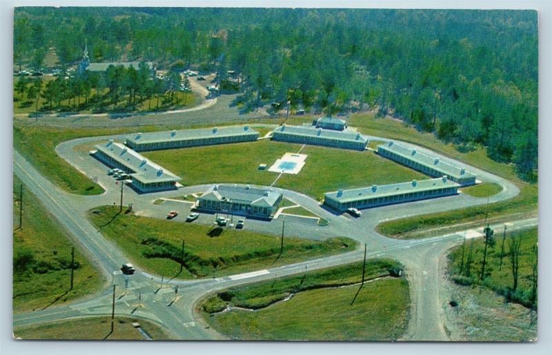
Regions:
<instances>
[{"instance_id":1,"label":"brownish-green grass strip in bottom left corner below the road","mask_svg":"<svg viewBox=\"0 0 552 355\"><path fill-rule=\"evenodd\" d=\"M32 327L19 327L14 329L14 336L34 340L144 340L144 336L132 326L132 322L140 323L140 327L154 340L172 338L169 332L157 323L125 316L115 316L113 333L110 333L111 317L89 316Z\"/></svg>"}]
</instances>

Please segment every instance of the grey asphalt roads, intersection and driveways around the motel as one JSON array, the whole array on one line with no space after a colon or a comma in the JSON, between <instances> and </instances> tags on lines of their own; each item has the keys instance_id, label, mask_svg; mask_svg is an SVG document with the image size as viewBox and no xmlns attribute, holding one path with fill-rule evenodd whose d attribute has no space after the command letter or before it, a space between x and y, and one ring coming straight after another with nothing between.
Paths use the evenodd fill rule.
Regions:
<instances>
[{"instance_id":1,"label":"grey asphalt roads, intersection and driveways around the motel","mask_svg":"<svg viewBox=\"0 0 552 355\"><path fill-rule=\"evenodd\" d=\"M117 138L117 137L115 137ZM373 139L385 140L380 137ZM97 180L105 189L104 194L98 196L80 196L63 192L41 176L32 165L14 151L14 173L25 183L28 188L40 199L50 212L66 227L75 243L81 245L81 249L88 254L101 272L111 284L117 285L117 314L132 314L144 317L163 324L174 336L180 339L220 339L224 338L214 329L208 329L194 313L194 305L197 301L210 292L226 287L241 285L254 281L262 281L289 274L316 270L323 267L341 265L353 261L362 260L362 247L353 252L327 256L316 260L305 261L268 270L226 276L221 278L208 278L194 281L164 281L161 287L159 276L146 274L137 270L133 276L124 276L118 270L126 258L121 250L103 238L101 233L86 219L86 211L99 205L118 203L119 186L115 185L112 178L106 176L106 167L88 156L86 152L75 152L73 148L81 143L98 140L98 137L90 139L77 139L59 145L57 153L66 159L81 172L91 179ZM423 148L417 147L424 151ZM367 153L368 154L368 153ZM434 155L439 155L432 153ZM442 159L451 161L444 156ZM483 181L500 183L503 190L493 196L490 201L501 201L516 196L517 187L498 176L483 172L476 168L469 168L480 176ZM154 205L155 199L182 194L204 192L208 185L183 187L177 192L160 192L156 194L136 194L128 187L125 189L125 204L132 203L137 213L149 214L163 218L169 205ZM331 236L348 236L359 243L368 245L368 257L389 256L397 259L406 267L406 274L410 281L412 313L408 332L404 340L414 341L445 341L446 334L442 329L442 307L444 300L439 296L440 287L440 256L450 247L460 243L464 238L463 232L446 234L430 239L402 241L388 239L375 232L375 226L385 221L389 216L402 218L417 214L426 214L443 210L451 210L469 205L486 203L486 199L476 199L471 196L460 195L433 199L430 201L418 201L403 205L366 210L359 219L348 216L336 215L320 207L319 203L310 197L290 190L275 189L282 192L286 198L307 207L330 221L327 227L315 226L312 220L300 219L293 216L280 216L272 222L253 221L246 222L246 228L264 233L279 234L281 231L280 219L286 220L286 235L311 236L316 239L324 239ZM183 210L185 211L185 209ZM184 213L182 213L184 214ZM209 216L201 216L198 223L212 223ZM178 223L178 221L175 221ZM310 223L310 224L309 224ZM537 219L528 219L510 223L509 230L527 228L537 225ZM502 227L502 225L495 226ZM288 233L288 234L287 234ZM477 236L477 231L467 231L470 236ZM128 287L125 287L125 279L128 279ZM83 299L77 303L52 307L51 309L14 314L14 327L54 321L56 319L73 316L86 316L90 314L110 314L111 288L98 295ZM175 286L178 285L178 293Z\"/></svg>"}]
</instances>

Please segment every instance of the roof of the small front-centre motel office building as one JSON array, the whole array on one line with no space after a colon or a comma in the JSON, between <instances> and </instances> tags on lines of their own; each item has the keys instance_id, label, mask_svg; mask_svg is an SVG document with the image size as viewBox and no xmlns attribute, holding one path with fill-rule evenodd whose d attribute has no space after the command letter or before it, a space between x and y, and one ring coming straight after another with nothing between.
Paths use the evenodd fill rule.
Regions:
<instances>
[{"instance_id":1,"label":"roof of the small front-centre motel office building","mask_svg":"<svg viewBox=\"0 0 552 355\"><path fill-rule=\"evenodd\" d=\"M273 190L259 189L248 186L214 185L210 187L199 199L209 201L232 201L257 207L272 207L282 196Z\"/></svg>"}]
</instances>

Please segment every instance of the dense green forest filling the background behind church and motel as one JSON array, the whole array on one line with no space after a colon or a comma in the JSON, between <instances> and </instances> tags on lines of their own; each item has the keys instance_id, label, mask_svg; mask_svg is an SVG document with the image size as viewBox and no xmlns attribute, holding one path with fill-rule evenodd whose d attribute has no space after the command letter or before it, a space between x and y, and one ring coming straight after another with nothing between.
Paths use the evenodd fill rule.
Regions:
<instances>
[{"instance_id":1,"label":"dense green forest filling the background behind church and motel","mask_svg":"<svg viewBox=\"0 0 552 355\"><path fill-rule=\"evenodd\" d=\"M153 61L237 76L236 103L256 110L377 110L458 149L484 145L538 168L538 17L524 10L17 8L14 66L55 50L90 60ZM234 81L233 81L234 82ZM279 103L277 105L276 103Z\"/></svg>"}]
</instances>

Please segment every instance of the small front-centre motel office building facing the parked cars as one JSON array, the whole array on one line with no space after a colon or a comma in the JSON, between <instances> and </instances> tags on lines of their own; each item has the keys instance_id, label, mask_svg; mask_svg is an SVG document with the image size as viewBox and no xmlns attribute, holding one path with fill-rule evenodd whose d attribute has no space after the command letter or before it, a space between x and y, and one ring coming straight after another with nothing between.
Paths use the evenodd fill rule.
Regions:
<instances>
[{"instance_id":1,"label":"small front-centre motel office building facing the parked cars","mask_svg":"<svg viewBox=\"0 0 552 355\"><path fill-rule=\"evenodd\" d=\"M214 185L197 199L197 209L270 219L282 194L250 186Z\"/></svg>"}]
</instances>

